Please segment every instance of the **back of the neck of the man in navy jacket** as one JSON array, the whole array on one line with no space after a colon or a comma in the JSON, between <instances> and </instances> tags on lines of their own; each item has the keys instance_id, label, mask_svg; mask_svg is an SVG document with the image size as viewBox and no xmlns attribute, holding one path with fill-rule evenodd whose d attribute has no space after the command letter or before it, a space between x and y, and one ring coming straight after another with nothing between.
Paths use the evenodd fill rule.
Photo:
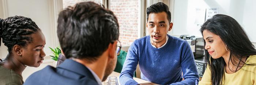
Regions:
<instances>
[{"instance_id":1,"label":"back of the neck of the man in navy jacket","mask_svg":"<svg viewBox=\"0 0 256 85\"><path fill-rule=\"evenodd\" d=\"M98 57L96 61L93 61L93 62L86 59L73 59L73 60L93 70L93 72L97 74L99 79L102 81L103 76L105 74L107 62L108 62L108 59L106 58L108 56L105 56L104 53L100 57Z\"/></svg>"}]
</instances>

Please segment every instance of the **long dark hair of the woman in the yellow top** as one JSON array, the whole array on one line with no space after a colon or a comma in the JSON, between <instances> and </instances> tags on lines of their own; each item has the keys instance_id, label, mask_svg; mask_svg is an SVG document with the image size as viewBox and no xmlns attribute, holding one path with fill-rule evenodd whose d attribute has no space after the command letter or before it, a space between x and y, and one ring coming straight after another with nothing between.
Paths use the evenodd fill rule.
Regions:
<instances>
[{"instance_id":1,"label":"long dark hair of the woman in the yellow top","mask_svg":"<svg viewBox=\"0 0 256 85\"><path fill-rule=\"evenodd\" d=\"M246 32L240 26L240 24L233 18L227 15L217 14L211 19L208 19L201 27L200 31L203 35L203 31L208 30L218 35L222 41L226 44L226 48L230 51L229 61L233 65L242 67L239 64L246 64L241 61L242 58L248 58L250 55L256 55L256 50L252 42L249 40ZM204 45L205 45L204 41ZM223 57L213 59L207 50L205 50L205 59L211 71L212 85L222 85L222 78L225 73L225 65ZM231 70L232 71L232 70ZM232 71L232 72L236 72Z\"/></svg>"}]
</instances>

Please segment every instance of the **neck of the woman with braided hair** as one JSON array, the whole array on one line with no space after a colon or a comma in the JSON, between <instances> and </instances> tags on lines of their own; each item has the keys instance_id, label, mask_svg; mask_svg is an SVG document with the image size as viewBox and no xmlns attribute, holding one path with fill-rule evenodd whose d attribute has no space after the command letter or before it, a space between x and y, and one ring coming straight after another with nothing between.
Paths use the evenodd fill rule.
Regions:
<instances>
[{"instance_id":1,"label":"neck of the woman with braided hair","mask_svg":"<svg viewBox=\"0 0 256 85\"><path fill-rule=\"evenodd\" d=\"M7 59L3 61L3 67L14 70L14 72L22 76L22 72L25 70L27 66L23 65L16 57L18 57L18 55L12 56L8 54L6 57Z\"/></svg>"}]
</instances>

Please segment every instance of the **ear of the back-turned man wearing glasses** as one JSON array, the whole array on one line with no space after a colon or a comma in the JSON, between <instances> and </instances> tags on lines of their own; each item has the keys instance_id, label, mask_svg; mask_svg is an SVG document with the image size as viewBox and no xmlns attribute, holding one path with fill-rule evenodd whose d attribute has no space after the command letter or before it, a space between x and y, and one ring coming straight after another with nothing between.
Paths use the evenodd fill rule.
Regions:
<instances>
[{"instance_id":1,"label":"ear of the back-turned man wearing glasses","mask_svg":"<svg viewBox=\"0 0 256 85\"><path fill-rule=\"evenodd\" d=\"M115 41L113 44L109 43L109 58L113 59L116 55L116 46L117 46L117 41Z\"/></svg>"}]
</instances>

